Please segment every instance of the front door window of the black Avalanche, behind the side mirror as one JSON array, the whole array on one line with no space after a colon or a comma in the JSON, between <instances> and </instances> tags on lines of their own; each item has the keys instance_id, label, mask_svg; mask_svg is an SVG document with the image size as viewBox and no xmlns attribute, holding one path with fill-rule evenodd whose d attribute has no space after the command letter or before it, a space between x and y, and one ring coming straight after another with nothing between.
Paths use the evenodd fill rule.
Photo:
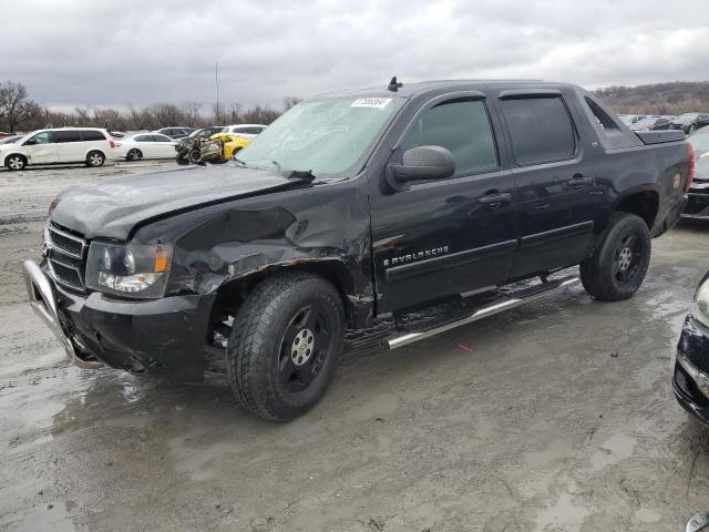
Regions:
<instances>
[{"instance_id":1,"label":"front door window of the black Avalanche, behind the side mirror","mask_svg":"<svg viewBox=\"0 0 709 532\"><path fill-rule=\"evenodd\" d=\"M481 100L445 102L425 111L409 130L402 151L434 145L455 158L455 175L499 166L497 150L485 103Z\"/></svg>"}]
</instances>

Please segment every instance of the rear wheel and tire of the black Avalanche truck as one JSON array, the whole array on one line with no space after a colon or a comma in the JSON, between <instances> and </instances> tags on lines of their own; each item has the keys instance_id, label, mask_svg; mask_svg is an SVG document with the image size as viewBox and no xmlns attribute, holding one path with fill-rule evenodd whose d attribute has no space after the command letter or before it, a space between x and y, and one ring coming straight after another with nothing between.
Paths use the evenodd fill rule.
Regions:
<instances>
[{"instance_id":1,"label":"rear wheel and tire of the black Avalanche truck","mask_svg":"<svg viewBox=\"0 0 709 532\"><path fill-rule=\"evenodd\" d=\"M614 213L593 255L580 263L586 291L603 301L628 299L640 288L653 244L647 224L629 213Z\"/></svg>"}]
</instances>

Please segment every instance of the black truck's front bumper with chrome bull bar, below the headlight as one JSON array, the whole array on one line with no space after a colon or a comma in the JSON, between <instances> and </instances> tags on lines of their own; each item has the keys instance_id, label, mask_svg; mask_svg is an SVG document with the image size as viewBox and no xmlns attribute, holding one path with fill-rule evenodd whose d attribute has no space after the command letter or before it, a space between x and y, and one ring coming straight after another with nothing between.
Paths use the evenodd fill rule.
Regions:
<instances>
[{"instance_id":1,"label":"black truck's front bumper with chrome bull bar, below the headlight","mask_svg":"<svg viewBox=\"0 0 709 532\"><path fill-rule=\"evenodd\" d=\"M32 309L78 366L203 377L214 295L127 301L66 291L32 260L23 274Z\"/></svg>"}]
</instances>

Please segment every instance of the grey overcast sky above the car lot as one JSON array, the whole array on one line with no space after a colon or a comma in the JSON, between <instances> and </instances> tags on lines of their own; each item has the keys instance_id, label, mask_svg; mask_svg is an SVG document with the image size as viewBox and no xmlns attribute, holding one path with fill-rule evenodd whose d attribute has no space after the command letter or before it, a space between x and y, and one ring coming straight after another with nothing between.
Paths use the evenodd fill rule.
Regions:
<instances>
[{"instance_id":1,"label":"grey overcast sky above the car lot","mask_svg":"<svg viewBox=\"0 0 709 532\"><path fill-rule=\"evenodd\" d=\"M707 0L21 0L0 81L53 106L280 105L349 86L541 78L586 88L709 79Z\"/></svg>"}]
</instances>

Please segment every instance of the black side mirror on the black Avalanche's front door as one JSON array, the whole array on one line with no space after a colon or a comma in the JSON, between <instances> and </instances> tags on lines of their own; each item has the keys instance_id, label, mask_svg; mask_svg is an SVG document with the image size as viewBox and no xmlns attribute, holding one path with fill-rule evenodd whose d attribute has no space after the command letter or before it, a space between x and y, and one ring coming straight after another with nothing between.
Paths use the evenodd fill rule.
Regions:
<instances>
[{"instance_id":1,"label":"black side mirror on the black Avalanche's front door","mask_svg":"<svg viewBox=\"0 0 709 532\"><path fill-rule=\"evenodd\" d=\"M387 181L397 191L405 191L411 181L444 180L455 173L453 154L442 146L417 146L403 153L403 164L390 164Z\"/></svg>"}]
</instances>

